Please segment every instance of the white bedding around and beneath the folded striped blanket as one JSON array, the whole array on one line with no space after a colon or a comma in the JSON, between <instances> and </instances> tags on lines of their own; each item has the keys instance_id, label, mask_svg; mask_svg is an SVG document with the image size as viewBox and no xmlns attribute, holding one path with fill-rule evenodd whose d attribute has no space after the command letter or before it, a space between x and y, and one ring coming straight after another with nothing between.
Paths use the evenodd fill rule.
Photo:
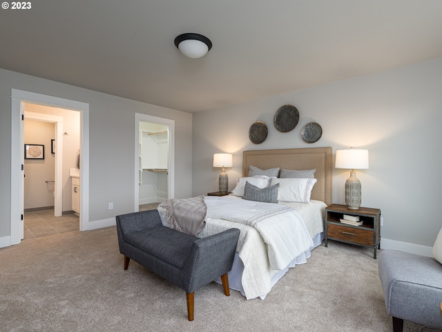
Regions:
<instances>
[{"instance_id":1,"label":"white bedding around and beneath the folded striped blanket","mask_svg":"<svg viewBox=\"0 0 442 332\"><path fill-rule=\"evenodd\" d=\"M258 230L241 222L220 218L220 216L225 217L225 214L220 213L220 209L218 209L216 213L210 212L210 205L213 201L223 200L225 200L226 203L228 201L230 203L238 201L238 204L244 202L240 197L232 195L215 197L214 200L207 200L206 203L209 203L208 218L206 219L206 226L202 232L198 234L198 237L207 237L229 228L238 228L241 233L236 251L238 252L237 256L240 261L238 261L238 257L236 257L234 267L231 273L229 273L229 284L231 288L241 291L242 295L247 297L247 299L253 299L256 297L264 298L271 290L273 284L282 277L285 272L287 272L289 267L305 263L310 255L310 250L320 243L317 239L318 234L323 232L323 214L326 205L323 202L313 200L311 203L280 203L280 205L288 205L297 211L292 213L294 215L298 214L298 217L301 219L301 225L297 222L297 228L300 232L300 242L303 243L300 244L296 256L289 259L288 264L283 264L283 266L278 264L277 268L273 269L271 268L269 258L267 257L267 245ZM224 210L227 210L228 212L229 208L226 207ZM212 216L216 216L216 218L211 218L211 214ZM305 237L306 232L309 238L308 241ZM298 236L291 233L289 237L296 239ZM313 243L311 239L316 239L316 243ZM291 242L296 243L296 241ZM308 246L306 246L307 242ZM287 262L287 257L285 259L285 262ZM238 268L242 271L238 272Z\"/></svg>"}]
</instances>

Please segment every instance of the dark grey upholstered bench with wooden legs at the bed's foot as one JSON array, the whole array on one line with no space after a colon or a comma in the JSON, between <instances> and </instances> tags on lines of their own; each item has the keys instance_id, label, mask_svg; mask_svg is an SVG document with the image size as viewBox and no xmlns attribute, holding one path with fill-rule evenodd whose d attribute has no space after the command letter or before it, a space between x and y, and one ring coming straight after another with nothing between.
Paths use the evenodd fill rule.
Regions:
<instances>
[{"instance_id":1,"label":"dark grey upholstered bench with wooden legs at the bed's foot","mask_svg":"<svg viewBox=\"0 0 442 332\"><path fill-rule=\"evenodd\" d=\"M229 296L229 279L240 230L232 228L200 239L164 227L157 210L116 217L124 270L130 259L186 291L187 315L193 320L194 292L221 276Z\"/></svg>"}]
</instances>

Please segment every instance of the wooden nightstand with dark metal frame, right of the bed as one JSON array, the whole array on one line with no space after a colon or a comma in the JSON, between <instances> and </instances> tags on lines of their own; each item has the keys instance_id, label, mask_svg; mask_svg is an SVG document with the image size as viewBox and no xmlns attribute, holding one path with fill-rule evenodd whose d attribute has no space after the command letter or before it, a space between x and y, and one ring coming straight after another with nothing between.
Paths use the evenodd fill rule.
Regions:
<instances>
[{"instance_id":1,"label":"wooden nightstand with dark metal frame, right of the bed","mask_svg":"<svg viewBox=\"0 0 442 332\"><path fill-rule=\"evenodd\" d=\"M360 226L341 223L343 215L359 216L363 221ZM373 258L376 259L376 249L381 243L381 210L359 208L350 210L347 205L332 204L325 209L325 246L329 239L345 243L373 248Z\"/></svg>"}]
</instances>

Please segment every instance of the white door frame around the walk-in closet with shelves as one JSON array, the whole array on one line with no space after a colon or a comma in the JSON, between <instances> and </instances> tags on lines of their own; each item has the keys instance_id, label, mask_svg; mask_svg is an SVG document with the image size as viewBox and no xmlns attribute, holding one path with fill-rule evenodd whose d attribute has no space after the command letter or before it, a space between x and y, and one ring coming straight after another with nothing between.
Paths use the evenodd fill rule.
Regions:
<instances>
[{"instance_id":1,"label":"white door frame around the walk-in closet with shelves","mask_svg":"<svg viewBox=\"0 0 442 332\"><path fill-rule=\"evenodd\" d=\"M168 128L168 156L167 156L167 198L175 197L175 120L148 116L147 114L135 113L135 201L134 211L140 210L139 170L140 170L140 122L162 124Z\"/></svg>"}]
</instances>

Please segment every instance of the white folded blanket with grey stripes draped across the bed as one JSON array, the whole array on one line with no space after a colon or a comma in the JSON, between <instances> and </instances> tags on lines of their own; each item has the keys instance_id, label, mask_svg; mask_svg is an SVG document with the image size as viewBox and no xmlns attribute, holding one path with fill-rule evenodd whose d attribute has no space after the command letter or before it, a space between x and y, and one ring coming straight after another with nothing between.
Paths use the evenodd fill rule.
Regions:
<instances>
[{"instance_id":1,"label":"white folded blanket with grey stripes draped across the bed","mask_svg":"<svg viewBox=\"0 0 442 332\"><path fill-rule=\"evenodd\" d=\"M258 230L274 270L282 270L313 246L302 217L288 206L217 196L207 196L204 201L208 218L236 221Z\"/></svg>"}]
</instances>

